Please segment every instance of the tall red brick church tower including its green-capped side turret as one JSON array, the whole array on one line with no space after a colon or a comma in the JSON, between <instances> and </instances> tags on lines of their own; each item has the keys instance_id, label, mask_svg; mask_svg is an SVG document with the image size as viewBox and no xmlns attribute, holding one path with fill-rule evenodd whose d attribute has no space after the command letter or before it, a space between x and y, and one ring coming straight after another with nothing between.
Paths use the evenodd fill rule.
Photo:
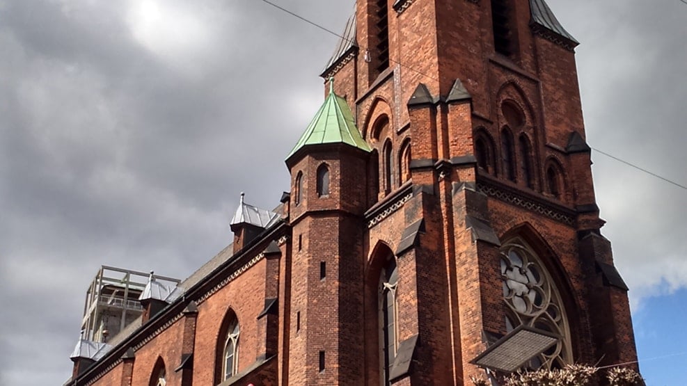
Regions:
<instances>
[{"instance_id":1,"label":"tall red brick church tower including its green-capped side turret","mask_svg":"<svg viewBox=\"0 0 687 386\"><path fill-rule=\"evenodd\" d=\"M356 2L287 159L290 380L462 385L636 360L577 45L544 0Z\"/></svg>"}]
</instances>

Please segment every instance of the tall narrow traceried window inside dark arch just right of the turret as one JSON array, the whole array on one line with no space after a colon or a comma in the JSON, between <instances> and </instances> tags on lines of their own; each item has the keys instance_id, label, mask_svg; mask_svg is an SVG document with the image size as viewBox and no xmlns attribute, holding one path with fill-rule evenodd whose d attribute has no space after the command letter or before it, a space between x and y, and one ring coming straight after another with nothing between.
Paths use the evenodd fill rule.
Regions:
<instances>
[{"instance_id":1,"label":"tall narrow traceried window inside dark arch just right of the turret","mask_svg":"<svg viewBox=\"0 0 687 386\"><path fill-rule=\"evenodd\" d=\"M398 268L396 258L389 251L388 261L381 270L379 278L379 325L381 375L384 385L390 385L390 371L396 357L397 348L397 287Z\"/></svg>"}]
</instances>

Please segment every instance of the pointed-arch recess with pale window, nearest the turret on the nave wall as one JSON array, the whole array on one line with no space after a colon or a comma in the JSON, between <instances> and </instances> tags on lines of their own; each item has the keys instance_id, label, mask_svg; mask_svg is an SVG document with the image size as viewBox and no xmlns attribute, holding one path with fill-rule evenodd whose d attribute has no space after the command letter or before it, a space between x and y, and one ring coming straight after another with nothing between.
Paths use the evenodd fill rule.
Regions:
<instances>
[{"instance_id":1,"label":"pointed-arch recess with pale window, nearest the turret on the nave wall","mask_svg":"<svg viewBox=\"0 0 687 386\"><path fill-rule=\"evenodd\" d=\"M236 312L229 308L217 335L214 371L215 385L235 376L239 372L240 331L239 318Z\"/></svg>"}]
</instances>

